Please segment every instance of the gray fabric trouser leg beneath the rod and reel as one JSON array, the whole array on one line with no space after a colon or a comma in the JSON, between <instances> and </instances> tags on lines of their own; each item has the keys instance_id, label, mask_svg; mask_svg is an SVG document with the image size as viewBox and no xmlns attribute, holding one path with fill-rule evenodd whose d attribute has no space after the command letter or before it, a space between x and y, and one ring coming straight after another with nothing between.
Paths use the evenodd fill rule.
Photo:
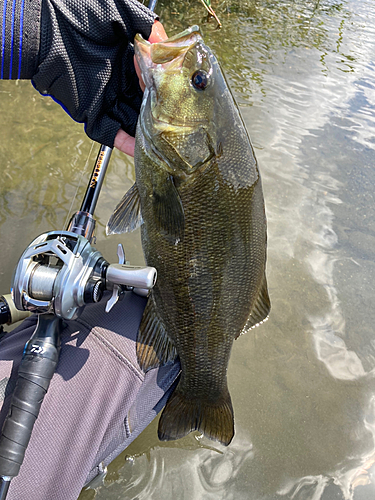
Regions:
<instances>
[{"instance_id":1,"label":"gray fabric trouser leg beneath the rod and reel","mask_svg":"<svg viewBox=\"0 0 375 500\"><path fill-rule=\"evenodd\" d=\"M146 375L139 368L136 336L145 304L128 293L109 314L102 301L68 323L59 364L9 500L76 500L99 464L110 463L164 406L179 364ZM0 400L5 394L0 425L35 325L36 318L28 318L0 342Z\"/></svg>"}]
</instances>

